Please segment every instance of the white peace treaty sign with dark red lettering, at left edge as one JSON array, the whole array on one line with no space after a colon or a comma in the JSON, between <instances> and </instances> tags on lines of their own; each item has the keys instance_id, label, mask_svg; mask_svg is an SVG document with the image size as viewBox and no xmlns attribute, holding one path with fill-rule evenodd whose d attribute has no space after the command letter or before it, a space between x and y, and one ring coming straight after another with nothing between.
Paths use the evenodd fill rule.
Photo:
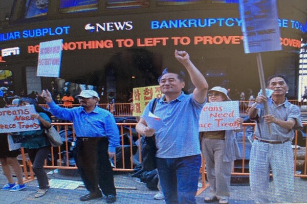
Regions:
<instances>
[{"instance_id":1,"label":"white peace treaty sign with dark red lettering, at left edge","mask_svg":"<svg viewBox=\"0 0 307 204\"><path fill-rule=\"evenodd\" d=\"M0 108L0 133L40 130L39 121L30 116L35 113L34 105Z\"/></svg>"}]
</instances>

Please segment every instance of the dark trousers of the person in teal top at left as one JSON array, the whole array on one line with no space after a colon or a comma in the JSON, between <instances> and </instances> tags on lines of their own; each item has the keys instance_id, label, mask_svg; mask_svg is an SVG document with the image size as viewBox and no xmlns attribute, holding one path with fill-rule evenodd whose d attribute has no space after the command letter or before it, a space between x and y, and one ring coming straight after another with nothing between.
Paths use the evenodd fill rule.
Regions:
<instances>
[{"instance_id":1,"label":"dark trousers of the person in teal top at left","mask_svg":"<svg viewBox=\"0 0 307 204\"><path fill-rule=\"evenodd\" d=\"M38 149L28 149L28 155L32 163L33 172L37 178L39 189L49 188L48 176L45 169L43 169L43 165L49 153L49 146Z\"/></svg>"}]
</instances>

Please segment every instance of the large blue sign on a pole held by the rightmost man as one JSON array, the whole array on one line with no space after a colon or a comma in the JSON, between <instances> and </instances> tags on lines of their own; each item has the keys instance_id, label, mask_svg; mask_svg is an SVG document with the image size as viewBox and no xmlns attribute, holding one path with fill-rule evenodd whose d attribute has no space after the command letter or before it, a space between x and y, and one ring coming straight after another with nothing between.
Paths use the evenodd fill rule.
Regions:
<instances>
[{"instance_id":1,"label":"large blue sign on a pole held by the rightmost man","mask_svg":"<svg viewBox=\"0 0 307 204\"><path fill-rule=\"evenodd\" d=\"M276 0L239 0L245 53L282 50Z\"/></svg>"}]
</instances>

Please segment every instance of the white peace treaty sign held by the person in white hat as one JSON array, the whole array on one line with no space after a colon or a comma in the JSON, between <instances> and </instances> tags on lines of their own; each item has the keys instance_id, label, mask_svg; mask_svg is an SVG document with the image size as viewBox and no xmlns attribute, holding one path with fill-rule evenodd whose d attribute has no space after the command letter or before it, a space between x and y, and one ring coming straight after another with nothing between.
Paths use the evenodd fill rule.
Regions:
<instances>
[{"instance_id":1,"label":"white peace treaty sign held by the person in white hat","mask_svg":"<svg viewBox=\"0 0 307 204\"><path fill-rule=\"evenodd\" d=\"M202 109L199 131L240 129L235 120L239 118L239 102L224 101L206 103Z\"/></svg>"}]
</instances>

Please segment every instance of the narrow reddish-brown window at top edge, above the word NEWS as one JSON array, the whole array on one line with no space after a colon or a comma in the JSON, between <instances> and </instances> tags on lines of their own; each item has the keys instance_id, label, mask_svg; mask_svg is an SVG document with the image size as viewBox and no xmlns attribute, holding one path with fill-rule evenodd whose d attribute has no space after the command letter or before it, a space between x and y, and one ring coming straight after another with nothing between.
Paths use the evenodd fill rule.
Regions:
<instances>
[{"instance_id":1,"label":"narrow reddish-brown window at top edge, above the word NEWS","mask_svg":"<svg viewBox=\"0 0 307 204\"><path fill-rule=\"evenodd\" d=\"M118 1L107 0L107 9L136 9L136 8L148 8L150 6L149 0L136 0L136 1Z\"/></svg>"}]
</instances>

